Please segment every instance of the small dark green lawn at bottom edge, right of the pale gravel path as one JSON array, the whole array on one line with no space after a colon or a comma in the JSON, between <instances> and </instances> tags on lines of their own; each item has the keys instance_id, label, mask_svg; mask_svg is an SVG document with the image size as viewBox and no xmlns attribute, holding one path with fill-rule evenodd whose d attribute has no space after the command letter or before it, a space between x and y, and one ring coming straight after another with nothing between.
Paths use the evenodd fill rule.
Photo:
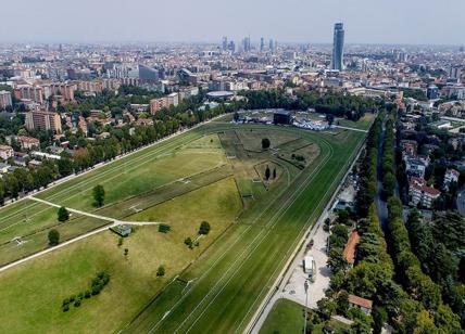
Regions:
<instances>
[{"instance_id":1,"label":"small dark green lawn at bottom edge, right of the pale gravel path","mask_svg":"<svg viewBox=\"0 0 465 334\"><path fill-rule=\"evenodd\" d=\"M260 334L303 333L304 309L294 301L278 299L263 323Z\"/></svg>"}]
</instances>

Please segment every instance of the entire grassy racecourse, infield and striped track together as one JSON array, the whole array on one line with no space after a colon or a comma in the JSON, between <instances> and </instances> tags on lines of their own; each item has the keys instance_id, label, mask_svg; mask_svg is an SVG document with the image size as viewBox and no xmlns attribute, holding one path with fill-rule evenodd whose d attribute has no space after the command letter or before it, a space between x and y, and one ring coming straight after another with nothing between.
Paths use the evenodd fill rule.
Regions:
<instances>
[{"instance_id":1,"label":"entire grassy racecourse, infield and striped track together","mask_svg":"<svg viewBox=\"0 0 465 334\"><path fill-rule=\"evenodd\" d=\"M282 152L289 153L286 143L297 139L318 150L300 170L272 151L244 150L264 134ZM242 331L363 139L355 131L212 123L41 193L41 198L109 217L163 221L172 231L137 228L121 247L115 234L104 232L0 273L0 307L8 308L0 314L0 332ZM263 164L278 167L268 190L261 182ZM97 183L109 193L99 210L88 200ZM246 198L247 187L252 196ZM10 217L0 218L0 229L11 233L5 241L16 231L37 233L47 226L40 215L55 216L55 208L30 202L0 211ZM32 223L21 222L25 209ZM202 220L211 223L211 233L189 249L184 240L197 240ZM75 224L73 233L90 224ZM162 279L155 275L160 265L166 267ZM62 299L86 288L101 270L112 277L102 294L62 312Z\"/></svg>"}]
</instances>

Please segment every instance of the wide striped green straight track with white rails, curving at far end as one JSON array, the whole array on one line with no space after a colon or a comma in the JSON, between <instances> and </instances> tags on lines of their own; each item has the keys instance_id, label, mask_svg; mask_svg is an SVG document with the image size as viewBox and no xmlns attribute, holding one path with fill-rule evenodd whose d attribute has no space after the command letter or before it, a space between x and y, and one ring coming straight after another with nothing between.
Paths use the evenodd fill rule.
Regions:
<instances>
[{"instance_id":1,"label":"wide striped green straight track with white rails, curving at far end","mask_svg":"<svg viewBox=\"0 0 465 334\"><path fill-rule=\"evenodd\" d=\"M176 303L165 308L166 305L158 307L155 300L147 311L152 316L142 313L127 332L231 333L247 326L291 249L319 216L364 138L354 131L348 133L345 142L309 131L299 131L299 136L318 144L321 155L291 187L246 211L239 224L212 247L217 247L216 252L212 249L208 259L196 261L181 274L183 281L193 281L184 294L173 296L178 298Z\"/></svg>"}]
</instances>

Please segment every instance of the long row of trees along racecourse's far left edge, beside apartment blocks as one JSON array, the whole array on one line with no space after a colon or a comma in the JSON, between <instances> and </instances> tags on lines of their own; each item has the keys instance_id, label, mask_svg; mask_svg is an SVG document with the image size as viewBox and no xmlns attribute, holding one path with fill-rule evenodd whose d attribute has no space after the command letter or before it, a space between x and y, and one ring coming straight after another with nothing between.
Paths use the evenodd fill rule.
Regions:
<instances>
[{"instance_id":1,"label":"long row of trees along racecourse's far left edge, beside apartment blocks","mask_svg":"<svg viewBox=\"0 0 465 334\"><path fill-rule=\"evenodd\" d=\"M47 188L59 178L81 172L99 163L109 162L122 153L131 152L180 129L236 110L234 105L221 104L214 110L199 112L201 101L196 97L176 107L172 106L156 113L154 126L126 125L122 128L108 126L104 130L110 133L110 137L95 141L87 140L81 132L73 134L72 144L76 149L74 155L63 152L60 160L43 159L38 168L17 168L13 174L1 179L0 204L4 203L4 198L17 198L22 192Z\"/></svg>"}]
</instances>

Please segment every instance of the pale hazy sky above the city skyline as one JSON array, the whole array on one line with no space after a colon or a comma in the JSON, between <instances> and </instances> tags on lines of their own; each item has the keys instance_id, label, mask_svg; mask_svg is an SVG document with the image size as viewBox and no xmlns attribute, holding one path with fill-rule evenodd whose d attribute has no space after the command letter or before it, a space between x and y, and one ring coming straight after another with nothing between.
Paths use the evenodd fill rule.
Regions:
<instances>
[{"instance_id":1,"label":"pale hazy sky above the city skyline","mask_svg":"<svg viewBox=\"0 0 465 334\"><path fill-rule=\"evenodd\" d=\"M0 42L219 41L465 44L465 0L1 1Z\"/></svg>"}]
</instances>

